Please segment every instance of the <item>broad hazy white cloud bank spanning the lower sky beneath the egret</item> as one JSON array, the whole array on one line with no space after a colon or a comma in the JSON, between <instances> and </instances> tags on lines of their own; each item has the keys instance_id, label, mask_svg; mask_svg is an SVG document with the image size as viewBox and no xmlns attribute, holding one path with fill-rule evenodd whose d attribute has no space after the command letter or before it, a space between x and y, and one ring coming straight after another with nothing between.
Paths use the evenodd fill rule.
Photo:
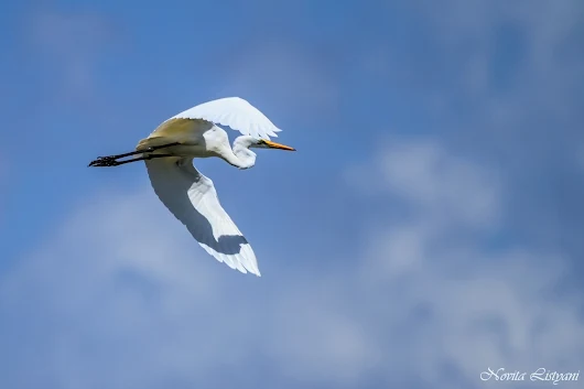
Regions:
<instances>
[{"instance_id":1,"label":"broad hazy white cloud bank spanning the lower sky beneath the egret","mask_svg":"<svg viewBox=\"0 0 584 389\"><path fill-rule=\"evenodd\" d=\"M215 262L150 188L88 199L0 279L17 366L0 382L479 388L487 367L580 368L582 299L553 292L569 262L488 244L505 192L487 166L394 140L359 169L380 182L364 201L408 215L371 227L361 258L278 280Z\"/></svg>"}]
</instances>

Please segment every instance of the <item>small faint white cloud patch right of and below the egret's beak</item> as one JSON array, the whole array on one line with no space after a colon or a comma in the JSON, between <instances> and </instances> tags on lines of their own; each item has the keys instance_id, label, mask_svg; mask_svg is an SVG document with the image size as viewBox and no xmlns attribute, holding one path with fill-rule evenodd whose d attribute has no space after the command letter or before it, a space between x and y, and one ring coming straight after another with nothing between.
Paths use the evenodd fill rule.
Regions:
<instances>
[{"instance_id":1,"label":"small faint white cloud patch right of and below the egret's beak","mask_svg":"<svg viewBox=\"0 0 584 389\"><path fill-rule=\"evenodd\" d=\"M346 179L364 194L386 193L415 205L426 223L463 223L485 228L500 218L498 173L468 164L429 140L388 139L376 160L347 170ZM432 216L432 219L428 219Z\"/></svg>"}]
</instances>

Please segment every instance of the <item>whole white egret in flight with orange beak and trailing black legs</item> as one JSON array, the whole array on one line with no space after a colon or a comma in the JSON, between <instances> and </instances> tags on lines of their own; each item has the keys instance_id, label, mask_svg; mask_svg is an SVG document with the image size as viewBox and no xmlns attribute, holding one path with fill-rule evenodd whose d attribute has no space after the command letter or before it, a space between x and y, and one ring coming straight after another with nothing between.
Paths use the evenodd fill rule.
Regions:
<instances>
[{"instance_id":1,"label":"whole white egret in flight with orange beak and trailing black legs","mask_svg":"<svg viewBox=\"0 0 584 389\"><path fill-rule=\"evenodd\" d=\"M232 149L227 132L216 125L229 126L244 136ZM219 262L244 273L260 275L256 255L221 207L210 179L193 166L193 158L219 156L239 169L256 163L251 148L295 149L270 141L278 129L262 112L238 97L204 102L162 122L136 151L99 156L89 166L118 166L144 161L154 192L181 220L198 244ZM133 159L121 160L126 156Z\"/></svg>"}]
</instances>

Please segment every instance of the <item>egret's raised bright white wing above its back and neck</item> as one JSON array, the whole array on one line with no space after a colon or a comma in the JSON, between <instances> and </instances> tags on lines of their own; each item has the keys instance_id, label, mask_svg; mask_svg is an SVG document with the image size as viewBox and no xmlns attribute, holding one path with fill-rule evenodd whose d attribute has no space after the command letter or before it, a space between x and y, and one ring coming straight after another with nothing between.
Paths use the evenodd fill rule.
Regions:
<instances>
[{"instance_id":1,"label":"egret's raised bright white wing above its back and neck","mask_svg":"<svg viewBox=\"0 0 584 389\"><path fill-rule=\"evenodd\" d=\"M239 97L226 97L203 102L173 116L172 119L204 119L214 123L229 126L245 136L270 140L281 131L270 119L248 101Z\"/></svg>"}]
</instances>

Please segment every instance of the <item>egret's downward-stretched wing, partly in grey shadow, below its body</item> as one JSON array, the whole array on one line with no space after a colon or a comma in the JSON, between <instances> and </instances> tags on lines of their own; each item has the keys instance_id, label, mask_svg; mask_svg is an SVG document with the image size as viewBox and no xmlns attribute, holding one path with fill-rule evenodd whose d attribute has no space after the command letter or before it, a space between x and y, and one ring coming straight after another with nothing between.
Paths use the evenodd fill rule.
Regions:
<instances>
[{"instance_id":1,"label":"egret's downward-stretched wing, partly in grey shadow, below its body","mask_svg":"<svg viewBox=\"0 0 584 389\"><path fill-rule=\"evenodd\" d=\"M145 161L154 192L198 244L219 262L260 275L256 255L219 204L210 181L193 166L193 159Z\"/></svg>"}]
</instances>

